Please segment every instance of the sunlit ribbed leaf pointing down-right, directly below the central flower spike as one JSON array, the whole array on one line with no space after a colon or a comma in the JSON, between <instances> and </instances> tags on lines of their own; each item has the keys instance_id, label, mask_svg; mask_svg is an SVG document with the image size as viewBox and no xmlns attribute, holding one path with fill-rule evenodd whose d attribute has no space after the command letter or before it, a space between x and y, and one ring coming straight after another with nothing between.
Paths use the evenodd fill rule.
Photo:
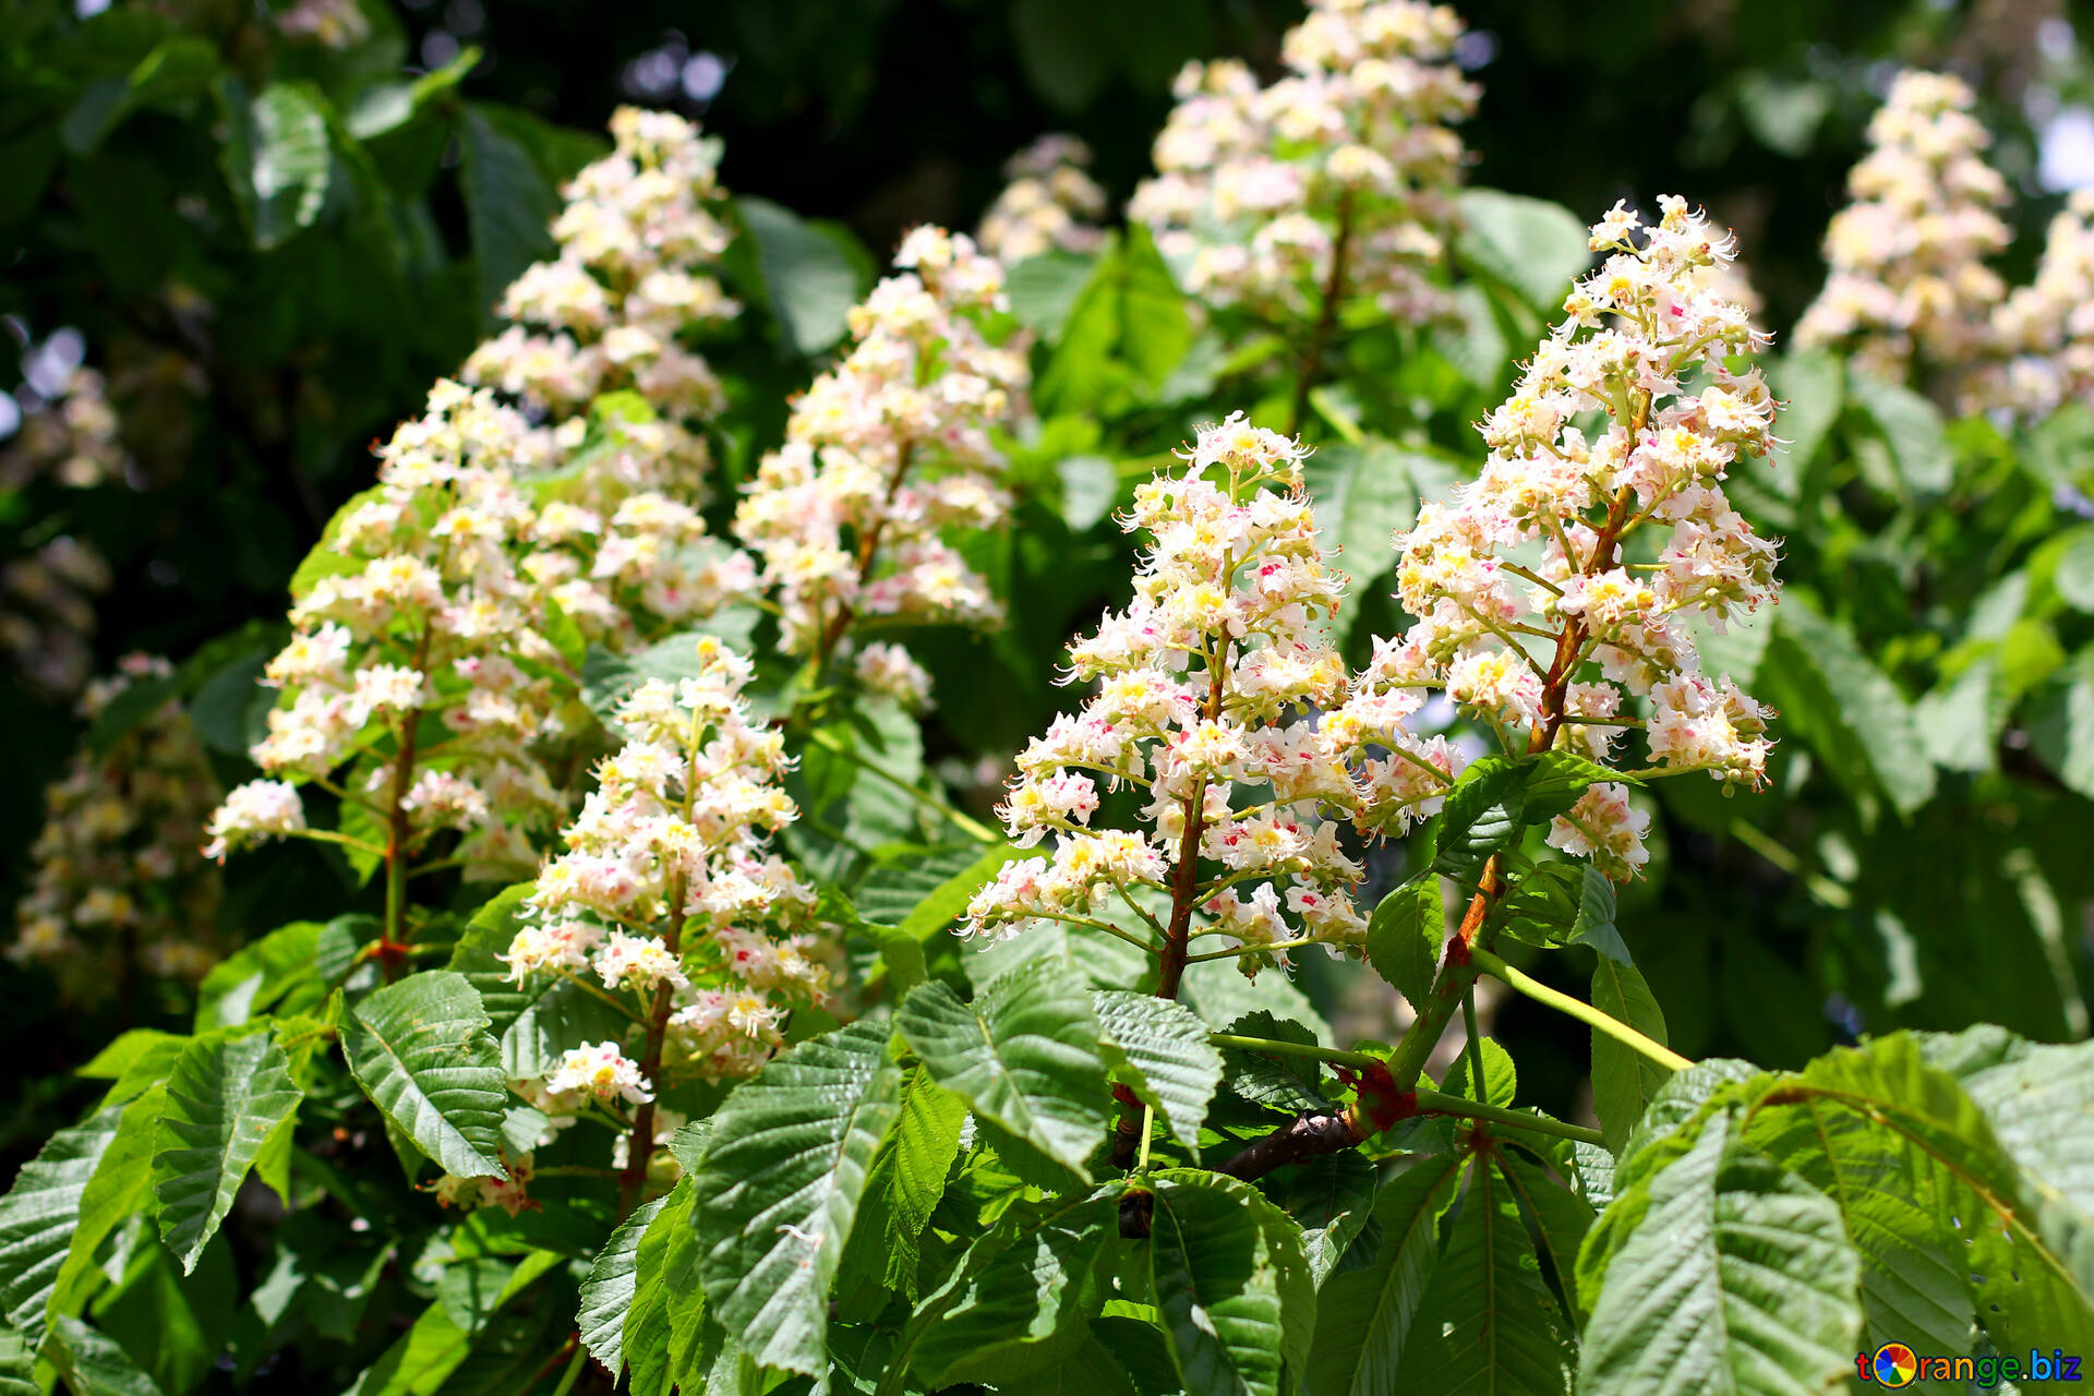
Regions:
<instances>
[{"instance_id":1,"label":"sunlit ribbed leaf pointing down-right, directly below the central flower spike","mask_svg":"<svg viewBox=\"0 0 2094 1396\"><path fill-rule=\"evenodd\" d=\"M919 984L894 1026L978 1122L1089 1180L1110 1086L1091 994L1066 961L1020 965L972 1005L944 984Z\"/></svg>"}]
</instances>

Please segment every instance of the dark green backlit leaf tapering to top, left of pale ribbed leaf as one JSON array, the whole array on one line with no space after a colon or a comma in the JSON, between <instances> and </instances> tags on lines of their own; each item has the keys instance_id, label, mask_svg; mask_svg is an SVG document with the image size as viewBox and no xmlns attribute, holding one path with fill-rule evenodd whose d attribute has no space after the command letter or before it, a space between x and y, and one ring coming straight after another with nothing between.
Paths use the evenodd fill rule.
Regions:
<instances>
[{"instance_id":1,"label":"dark green backlit leaf tapering to top, left of pale ribbed leaf","mask_svg":"<svg viewBox=\"0 0 2094 1396\"><path fill-rule=\"evenodd\" d=\"M1562 1396L1575 1360L1512 1187L1495 1164L1478 1162L1418 1298L1395 1390Z\"/></svg>"}]
</instances>

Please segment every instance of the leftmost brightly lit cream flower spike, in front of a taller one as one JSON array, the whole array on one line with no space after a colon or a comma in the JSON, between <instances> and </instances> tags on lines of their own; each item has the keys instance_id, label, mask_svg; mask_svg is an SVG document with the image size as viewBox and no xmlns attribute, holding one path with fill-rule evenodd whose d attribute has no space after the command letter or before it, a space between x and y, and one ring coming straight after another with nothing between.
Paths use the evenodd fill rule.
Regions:
<instances>
[{"instance_id":1,"label":"leftmost brightly lit cream flower spike, in front of a taller one","mask_svg":"<svg viewBox=\"0 0 2094 1396\"><path fill-rule=\"evenodd\" d=\"M377 488L337 517L327 576L291 607L293 636L266 670L283 697L253 747L272 774L404 808L417 839L463 831L475 879L528 875L528 831L561 810L540 743L563 735L551 678L563 659L544 626L567 592L526 553L542 517L515 481L542 448L492 393L436 385L427 414L379 450ZM205 852L304 827L289 781L255 781L226 797Z\"/></svg>"}]
</instances>

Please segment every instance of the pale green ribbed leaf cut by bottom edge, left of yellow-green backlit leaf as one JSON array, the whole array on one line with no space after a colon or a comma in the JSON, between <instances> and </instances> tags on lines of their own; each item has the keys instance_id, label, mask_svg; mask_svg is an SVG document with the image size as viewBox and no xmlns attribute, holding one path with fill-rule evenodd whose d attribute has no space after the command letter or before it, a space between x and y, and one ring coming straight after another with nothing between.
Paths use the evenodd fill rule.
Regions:
<instances>
[{"instance_id":1,"label":"pale green ribbed leaf cut by bottom edge, left of yellow-green backlit leaf","mask_svg":"<svg viewBox=\"0 0 2094 1396\"><path fill-rule=\"evenodd\" d=\"M1862 1262L1830 1197L1740 1147L1728 1113L1640 1191L1648 1210L1606 1264L1579 1390L1786 1396L1853 1375Z\"/></svg>"}]
</instances>

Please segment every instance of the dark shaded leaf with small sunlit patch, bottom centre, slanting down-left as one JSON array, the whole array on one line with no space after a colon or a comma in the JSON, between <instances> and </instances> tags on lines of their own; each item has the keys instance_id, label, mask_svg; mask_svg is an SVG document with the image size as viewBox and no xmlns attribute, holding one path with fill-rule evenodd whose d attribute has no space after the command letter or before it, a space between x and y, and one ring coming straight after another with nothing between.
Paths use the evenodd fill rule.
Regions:
<instances>
[{"instance_id":1,"label":"dark shaded leaf with small sunlit patch, bottom centre, slanting down-left","mask_svg":"<svg viewBox=\"0 0 2094 1396\"><path fill-rule=\"evenodd\" d=\"M967 1247L951 1304L917 1339L930 1386L995 1381L1055 1360L1085 1333L1085 1289L1118 1235L1118 1189L1020 1203Z\"/></svg>"}]
</instances>

